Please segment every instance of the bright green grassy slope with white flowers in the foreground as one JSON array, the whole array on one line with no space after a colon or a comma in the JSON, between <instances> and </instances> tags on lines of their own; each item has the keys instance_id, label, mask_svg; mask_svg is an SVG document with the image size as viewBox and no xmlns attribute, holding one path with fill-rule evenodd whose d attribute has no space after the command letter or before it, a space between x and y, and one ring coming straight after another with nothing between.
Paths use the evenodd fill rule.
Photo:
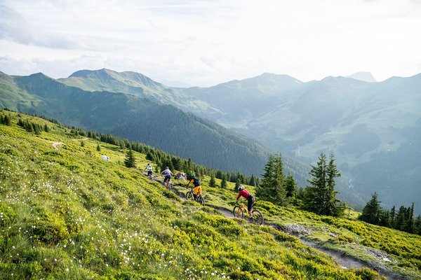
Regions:
<instances>
[{"instance_id":1,"label":"bright green grassy slope with white flowers in the foreground","mask_svg":"<svg viewBox=\"0 0 421 280\"><path fill-rule=\"evenodd\" d=\"M266 226L225 218L215 208L232 209L230 183L210 188L203 178L209 206L200 207L149 182L145 155L135 153L140 168L128 169L117 146L0 114L12 120L0 125L0 279L381 279L368 268L343 269L279 230L293 224L319 244L361 254L388 248L392 269L421 276L420 237L266 202L257 205ZM19 118L50 132L26 132Z\"/></svg>"}]
</instances>

